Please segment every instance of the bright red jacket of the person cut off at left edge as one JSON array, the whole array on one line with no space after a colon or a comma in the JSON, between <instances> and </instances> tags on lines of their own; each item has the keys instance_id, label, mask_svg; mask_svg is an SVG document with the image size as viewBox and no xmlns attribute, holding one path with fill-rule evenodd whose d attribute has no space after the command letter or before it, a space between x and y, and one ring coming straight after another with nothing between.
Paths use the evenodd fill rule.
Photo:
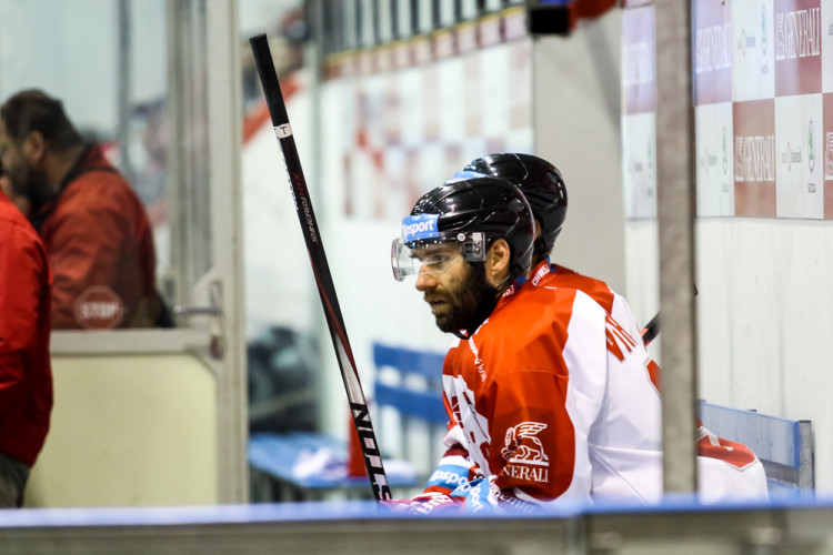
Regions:
<instances>
[{"instance_id":1,"label":"bright red jacket of the person cut off at left edge","mask_svg":"<svg viewBox=\"0 0 833 555\"><path fill-rule=\"evenodd\" d=\"M30 466L52 411L51 281L38 233L0 192L0 451Z\"/></svg>"}]
</instances>

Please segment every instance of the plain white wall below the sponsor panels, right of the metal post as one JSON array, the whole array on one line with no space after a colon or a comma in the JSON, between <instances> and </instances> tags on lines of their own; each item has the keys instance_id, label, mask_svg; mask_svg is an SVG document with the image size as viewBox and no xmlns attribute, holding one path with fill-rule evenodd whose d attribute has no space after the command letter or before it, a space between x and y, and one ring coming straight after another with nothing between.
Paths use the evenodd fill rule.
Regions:
<instances>
[{"instance_id":1,"label":"plain white wall below the sponsor panels, right of the metal post","mask_svg":"<svg viewBox=\"0 0 833 555\"><path fill-rule=\"evenodd\" d=\"M813 421L816 487L833 487L833 228L697 222L701 397Z\"/></svg>"}]
</instances>

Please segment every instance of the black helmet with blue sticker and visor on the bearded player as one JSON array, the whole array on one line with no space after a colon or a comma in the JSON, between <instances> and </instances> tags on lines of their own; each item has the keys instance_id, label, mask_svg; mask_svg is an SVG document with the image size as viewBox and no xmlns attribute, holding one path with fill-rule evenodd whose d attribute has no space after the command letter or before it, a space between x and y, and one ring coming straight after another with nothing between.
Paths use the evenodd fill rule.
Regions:
<instances>
[{"instance_id":1,"label":"black helmet with blue sticker and visor on the bearded player","mask_svg":"<svg viewBox=\"0 0 833 555\"><path fill-rule=\"evenodd\" d=\"M534 223L532 210L520 189L511 181L492 176L452 179L422 195L411 215L402 220L402 236L393 241L393 274L402 281L419 273L412 249L436 243L458 242L463 260L485 260L496 239L511 250L506 282L525 274L532 262Z\"/></svg>"}]
</instances>

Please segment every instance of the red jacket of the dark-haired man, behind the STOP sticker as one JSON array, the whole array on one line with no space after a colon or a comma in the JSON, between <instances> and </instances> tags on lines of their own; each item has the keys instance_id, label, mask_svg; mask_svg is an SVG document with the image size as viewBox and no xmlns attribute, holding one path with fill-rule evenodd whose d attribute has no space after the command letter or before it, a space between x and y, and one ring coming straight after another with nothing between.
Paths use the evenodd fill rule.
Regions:
<instances>
[{"instance_id":1,"label":"red jacket of the dark-haired man, behind the STOP sticker","mask_svg":"<svg viewBox=\"0 0 833 555\"><path fill-rule=\"evenodd\" d=\"M155 251L131 186L90 148L33 221L54 275L52 327L148 327L157 316Z\"/></svg>"}]
</instances>

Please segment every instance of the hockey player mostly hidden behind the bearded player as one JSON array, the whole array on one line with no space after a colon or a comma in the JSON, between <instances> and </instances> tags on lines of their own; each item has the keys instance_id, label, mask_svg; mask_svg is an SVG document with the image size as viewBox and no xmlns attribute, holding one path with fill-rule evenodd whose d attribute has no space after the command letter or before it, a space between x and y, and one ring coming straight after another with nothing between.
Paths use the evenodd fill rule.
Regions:
<instances>
[{"instance_id":1,"label":"hockey player mostly hidden behind the bearded player","mask_svg":"<svg viewBox=\"0 0 833 555\"><path fill-rule=\"evenodd\" d=\"M472 161L459 178L492 175L512 181L529 201L536 225L532 270L529 279L541 286L578 289L602 305L621 324L621 336L640 336L640 327L621 295L606 283L550 262L555 239L566 218L566 185L561 172L548 161L519 153L490 154ZM630 340L629 340L630 341ZM615 344L610 345L615 349ZM660 367L648 362L649 374L659 390ZM712 503L724 500L766 498L763 465L746 446L716 437L702 423L697 426L700 498ZM449 493L464 482L471 462L452 445L429 483L429 492Z\"/></svg>"}]
</instances>

